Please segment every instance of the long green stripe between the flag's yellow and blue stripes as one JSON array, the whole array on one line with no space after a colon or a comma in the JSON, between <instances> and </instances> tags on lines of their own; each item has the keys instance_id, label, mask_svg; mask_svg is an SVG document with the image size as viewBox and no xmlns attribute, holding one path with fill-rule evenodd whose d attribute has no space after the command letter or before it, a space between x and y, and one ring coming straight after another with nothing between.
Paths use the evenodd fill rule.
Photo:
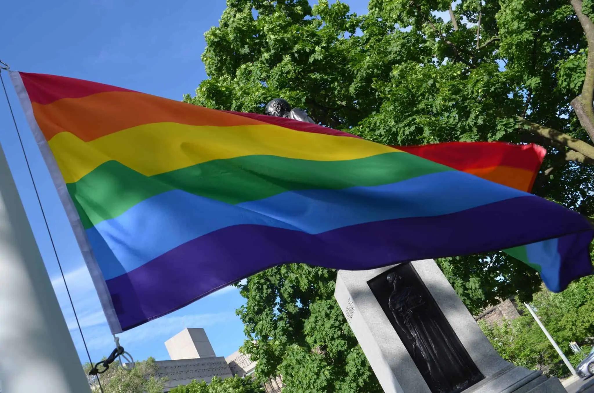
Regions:
<instances>
[{"instance_id":1,"label":"long green stripe between the flag's yellow and blue stripes","mask_svg":"<svg viewBox=\"0 0 594 393\"><path fill-rule=\"evenodd\" d=\"M447 170L453 169L402 152L345 161L244 156L155 176L144 176L117 161L108 161L67 186L84 227L89 229L144 199L173 189L238 204L285 191L376 186Z\"/></svg>"}]
</instances>

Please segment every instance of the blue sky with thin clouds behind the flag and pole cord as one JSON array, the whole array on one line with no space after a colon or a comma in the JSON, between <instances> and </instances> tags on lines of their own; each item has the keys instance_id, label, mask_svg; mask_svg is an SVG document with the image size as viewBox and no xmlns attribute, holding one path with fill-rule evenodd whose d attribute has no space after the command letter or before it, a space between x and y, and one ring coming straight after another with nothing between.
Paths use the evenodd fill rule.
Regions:
<instances>
[{"instance_id":1,"label":"blue sky with thin clouds behind the flag and pole cord","mask_svg":"<svg viewBox=\"0 0 594 393\"><path fill-rule=\"evenodd\" d=\"M365 0L345 1L352 11L366 12ZM200 55L204 32L218 24L225 1L27 0L2 6L0 59L17 71L64 75L118 85L180 100L206 78ZM65 271L93 361L107 356L113 338L105 322L89 272L58 195L30 134L14 90L5 83L23 135L27 157L40 190L50 231ZM0 144L5 151L42 253L62 312L81 361L83 343L74 321L48 232L34 195L23 154L4 97L0 99ZM167 285L167 283L163 283ZM169 359L163 344L185 327L206 329L217 355L227 356L244 341L235 309L244 303L227 287L183 309L120 335L135 359Z\"/></svg>"}]
</instances>

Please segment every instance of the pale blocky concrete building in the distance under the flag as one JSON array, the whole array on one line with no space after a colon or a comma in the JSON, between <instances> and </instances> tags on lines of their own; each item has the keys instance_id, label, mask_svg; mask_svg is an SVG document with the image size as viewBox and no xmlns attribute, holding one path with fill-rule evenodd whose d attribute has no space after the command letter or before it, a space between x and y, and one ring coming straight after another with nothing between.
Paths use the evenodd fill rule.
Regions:
<instances>
[{"instance_id":1,"label":"pale blocky concrete building in the distance under the flag","mask_svg":"<svg viewBox=\"0 0 594 393\"><path fill-rule=\"evenodd\" d=\"M186 328L165 341L171 360L157 360L157 378L168 377L163 392L179 385L187 385L192 379L204 380L207 384L213 376L233 376L222 356L216 356L204 329Z\"/></svg>"}]
</instances>

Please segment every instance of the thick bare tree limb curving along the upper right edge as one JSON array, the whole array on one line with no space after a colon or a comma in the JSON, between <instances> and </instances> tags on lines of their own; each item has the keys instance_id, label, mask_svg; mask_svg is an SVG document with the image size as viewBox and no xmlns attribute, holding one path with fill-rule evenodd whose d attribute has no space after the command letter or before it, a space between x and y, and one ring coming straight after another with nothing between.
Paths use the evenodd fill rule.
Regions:
<instances>
[{"instance_id":1,"label":"thick bare tree limb curving along the upper right edge","mask_svg":"<svg viewBox=\"0 0 594 393\"><path fill-rule=\"evenodd\" d=\"M594 22L582 12L582 0L571 0L571 5L582 25L588 43L586 77L582 85L582 94L571 100L571 107L576 112L582 127L590 135L590 139L594 141Z\"/></svg>"}]
</instances>

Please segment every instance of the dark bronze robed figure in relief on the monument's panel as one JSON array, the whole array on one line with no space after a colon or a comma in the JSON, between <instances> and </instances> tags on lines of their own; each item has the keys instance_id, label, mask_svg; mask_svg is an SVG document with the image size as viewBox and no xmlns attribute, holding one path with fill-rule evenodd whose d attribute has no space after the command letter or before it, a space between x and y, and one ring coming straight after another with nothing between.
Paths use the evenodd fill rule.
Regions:
<instances>
[{"instance_id":1,"label":"dark bronze robed figure in relief on the monument's panel","mask_svg":"<svg viewBox=\"0 0 594 393\"><path fill-rule=\"evenodd\" d=\"M422 294L414 287L406 286L396 272L388 274L387 280L393 286L388 308L400 331L404 332L405 337L400 338L412 346L413 360L426 365L425 370L419 367L425 380L433 381L440 393L465 389L467 375L471 373L465 356L459 353L451 337L440 328Z\"/></svg>"}]
</instances>

